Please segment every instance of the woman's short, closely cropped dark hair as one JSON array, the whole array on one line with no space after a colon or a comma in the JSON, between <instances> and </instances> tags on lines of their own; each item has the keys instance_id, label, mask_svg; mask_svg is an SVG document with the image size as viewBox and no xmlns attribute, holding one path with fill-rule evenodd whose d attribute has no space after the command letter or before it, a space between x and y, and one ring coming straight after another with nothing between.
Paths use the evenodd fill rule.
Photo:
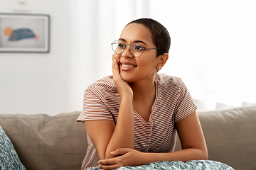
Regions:
<instances>
[{"instance_id":1,"label":"woman's short, closely cropped dark hair","mask_svg":"<svg viewBox=\"0 0 256 170\"><path fill-rule=\"evenodd\" d=\"M161 25L161 23L151 18L139 18L130 23L140 23L146 28L149 28L153 43L154 45L156 45L157 48L159 48L157 49L156 57L158 57L159 55L163 55L164 53L169 53L171 46L171 37L168 30L163 25ZM127 26L130 23L128 23Z\"/></svg>"}]
</instances>

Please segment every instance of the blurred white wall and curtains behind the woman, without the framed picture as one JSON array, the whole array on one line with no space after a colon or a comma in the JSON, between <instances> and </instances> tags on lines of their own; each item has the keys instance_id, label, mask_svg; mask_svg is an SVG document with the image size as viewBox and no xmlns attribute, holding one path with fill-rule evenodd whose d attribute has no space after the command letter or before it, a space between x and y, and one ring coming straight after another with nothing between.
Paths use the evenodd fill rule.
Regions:
<instances>
[{"instance_id":1,"label":"blurred white wall and curtains behind the woman, without the framed picture","mask_svg":"<svg viewBox=\"0 0 256 170\"><path fill-rule=\"evenodd\" d=\"M0 13L50 16L49 53L0 52L0 113L82 111L87 86L112 74L111 42L144 17L169 30L160 72L183 79L198 111L255 105L255 8L252 0L0 0Z\"/></svg>"}]
</instances>

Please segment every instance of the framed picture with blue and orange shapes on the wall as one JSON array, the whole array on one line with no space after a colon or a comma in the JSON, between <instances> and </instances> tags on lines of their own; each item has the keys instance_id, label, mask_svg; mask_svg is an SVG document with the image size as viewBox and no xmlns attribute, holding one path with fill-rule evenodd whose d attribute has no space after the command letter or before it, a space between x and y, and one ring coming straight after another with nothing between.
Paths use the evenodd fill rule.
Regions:
<instances>
[{"instance_id":1,"label":"framed picture with blue and orange shapes on the wall","mask_svg":"<svg viewBox=\"0 0 256 170\"><path fill-rule=\"evenodd\" d=\"M0 13L0 52L49 52L50 16Z\"/></svg>"}]
</instances>

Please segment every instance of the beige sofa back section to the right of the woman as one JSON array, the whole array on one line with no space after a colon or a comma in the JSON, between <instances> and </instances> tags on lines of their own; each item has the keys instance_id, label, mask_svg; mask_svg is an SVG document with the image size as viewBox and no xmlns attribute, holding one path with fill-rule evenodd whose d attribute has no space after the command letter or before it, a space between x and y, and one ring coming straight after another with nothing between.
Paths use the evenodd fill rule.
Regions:
<instances>
[{"instance_id":1,"label":"beige sofa back section to the right of the woman","mask_svg":"<svg viewBox=\"0 0 256 170\"><path fill-rule=\"evenodd\" d=\"M198 113L208 159L238 170L256 169L256 107ZM178 137L177 137L178 138ZM181 149L179 140L176 150Z\"/></svg>"}]
</instances>

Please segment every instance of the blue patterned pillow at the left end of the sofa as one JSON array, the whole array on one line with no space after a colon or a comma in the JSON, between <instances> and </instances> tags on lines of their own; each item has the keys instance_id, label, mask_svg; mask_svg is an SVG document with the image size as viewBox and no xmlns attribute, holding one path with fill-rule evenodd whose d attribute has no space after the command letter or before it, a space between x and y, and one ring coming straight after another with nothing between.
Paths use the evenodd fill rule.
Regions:
<instances>
[{"instance_id":1,"label":"blue patterned pillow at the left end of the sofa","mask_svg":"<svg viewBox=\"0 0 256 170\"><path fill-rule=\"evenodd\" d=\"M26 170L20 159L18 158L18 154L14 149L14 145L12 145L11 140L4 132L3 128L0 126L0 169L1 170L9 170L9 169L20 169Z\"/></svg>"}]
</instances>

